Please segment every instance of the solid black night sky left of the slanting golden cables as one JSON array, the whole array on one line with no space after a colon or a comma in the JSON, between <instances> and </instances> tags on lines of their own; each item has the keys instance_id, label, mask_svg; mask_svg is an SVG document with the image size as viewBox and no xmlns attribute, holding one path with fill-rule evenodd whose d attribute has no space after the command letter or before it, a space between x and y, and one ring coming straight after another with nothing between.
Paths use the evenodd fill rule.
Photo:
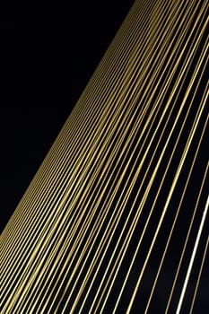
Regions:
<instances>
[{"instance_id":1,"label":"solid black night sky left of the slanting golden cables","mask_svg":"<svg viewBox=\"0 0 209 314\"><path fill-rule=\"evenodd\" d=\"M1 9L1 231L133 3L36 0Z\"/></svg>"}]
</instances>

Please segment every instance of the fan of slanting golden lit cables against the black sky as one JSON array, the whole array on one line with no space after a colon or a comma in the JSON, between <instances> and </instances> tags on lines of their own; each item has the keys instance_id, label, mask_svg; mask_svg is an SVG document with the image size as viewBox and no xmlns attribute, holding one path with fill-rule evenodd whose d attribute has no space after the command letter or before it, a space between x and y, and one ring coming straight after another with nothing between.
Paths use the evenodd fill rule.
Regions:
<instances>
[{"instance_id":1,"label":"fan of slanting golden lit cables against the black sky","mask_svg":"<svg viewBox=\"0 0 209 314\"><path fill-rule=\"evenodd\" d=\"M207 27L206 0L135 1L1 234L1 313L197 309Z\"/></svg>"}]
</instances>

